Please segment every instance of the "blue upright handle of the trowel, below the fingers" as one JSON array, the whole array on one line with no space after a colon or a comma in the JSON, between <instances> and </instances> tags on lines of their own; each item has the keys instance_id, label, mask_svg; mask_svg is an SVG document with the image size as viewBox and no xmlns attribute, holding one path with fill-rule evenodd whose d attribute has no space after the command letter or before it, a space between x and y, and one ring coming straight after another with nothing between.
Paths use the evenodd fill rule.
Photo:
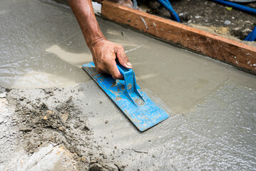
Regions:
<instances>
[{"instance_id":1,"label":"blue upright handle of the trowel, below the fingers","mask_svg":"<svg viewBox=\"0 0 256 171\"><path fill-rule=\"evenodd\" d=\"M133 70L130 69L130 68L125 68L125 67L121 66L120 63L117 63L117 66L118 66L118 70L122 74L123 79L125 81L124 86L125 86L126 95L128 96L128 98L130 98L130 100L133 101L133 103L137 106L137 104L135 103L133 98L131 98L131 96L130 96L131 93L135 93L135 95L138 96L138 98L142 98L143 101L145 102L145 99L143 98L143 96L138 91L138 86L136 84L135 73L133 72Z\"/></svg>"}]
</instances>

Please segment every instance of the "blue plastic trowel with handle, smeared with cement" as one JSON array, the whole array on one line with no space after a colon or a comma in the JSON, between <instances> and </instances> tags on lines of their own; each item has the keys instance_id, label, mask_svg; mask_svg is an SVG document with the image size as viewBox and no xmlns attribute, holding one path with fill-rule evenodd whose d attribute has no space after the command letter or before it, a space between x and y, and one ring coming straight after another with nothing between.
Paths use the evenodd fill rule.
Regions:
<instances>
[{"instance_id":1,"label":"blue plastic trowel with handle, smeared with cement","mask_svg":"<svg viewBox=\"0 0 256 171\"><path fill-rule=\"evenodd\" d=\"M83 65L83 69L118 105L138 130L147 130L169 118L168 113L137 85L133 70L124 68L120 63L117 66L124 80L115 80L109 75L97 73L93 62Z\"/></svg>"}]
</instances>

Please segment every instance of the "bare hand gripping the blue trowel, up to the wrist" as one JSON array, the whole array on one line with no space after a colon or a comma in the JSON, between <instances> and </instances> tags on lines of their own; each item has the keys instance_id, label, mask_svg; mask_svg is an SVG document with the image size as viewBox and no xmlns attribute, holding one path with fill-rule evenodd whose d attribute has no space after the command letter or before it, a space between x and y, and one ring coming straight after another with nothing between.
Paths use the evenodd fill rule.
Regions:
<instances>
[{"instance_id":1,"label":"bare hand gripping the blue trowel, up to the wrist","mask_svg":"<svg viewBox=\"0 0 256 171\"><path fill-rule=\"evenodd\" d=\"M133 67L123 50L123 46L108 41L106 38L101 38L93 43L90 50L98 73L108 73L111 74L114 79L123 79L123 76L116 66L116 58L118 58L122 66L126 68Z\"/></svg>"}]
</instances>

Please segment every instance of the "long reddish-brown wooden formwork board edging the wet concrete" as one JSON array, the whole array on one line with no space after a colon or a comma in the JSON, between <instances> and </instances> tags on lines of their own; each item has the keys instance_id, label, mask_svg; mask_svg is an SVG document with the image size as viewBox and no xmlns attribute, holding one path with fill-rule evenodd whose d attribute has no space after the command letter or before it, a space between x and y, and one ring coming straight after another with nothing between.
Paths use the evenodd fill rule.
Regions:
<instances>
[{"instance_id":1,"label":"long reddish-brown wooden formwork board edging the wet concrete","mask_svg":"<svg viewBox=\"0 0 256 171\"><path fill-rule=\"evenodd\" d=\"M101 15L165 42L188 48L256 75L256 48L175 21L103 1ZM210 47L210 48L209 48Z\"/></svg>"}]
</instances>

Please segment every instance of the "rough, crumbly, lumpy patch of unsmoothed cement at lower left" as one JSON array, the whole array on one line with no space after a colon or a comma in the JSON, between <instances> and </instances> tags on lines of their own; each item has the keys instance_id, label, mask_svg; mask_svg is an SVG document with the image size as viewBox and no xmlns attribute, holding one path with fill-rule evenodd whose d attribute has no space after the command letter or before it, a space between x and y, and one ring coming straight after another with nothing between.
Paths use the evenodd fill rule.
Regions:
<instances>
[{"instance_id":1,"label":"rough, crumbly, lumpy patch of unsmoothed cement at lower left","mask_svg":"<svg viewBox=\"0 0 256 171\"><path fill-rule=\"evenodd\" d=\"M76 88L73 93L79 90ZM63 145L72 152L78 170L123 170L125 166L113 162L93 140L93 131L83 112L75 107L72 95L61 102L51 101L53 105L46 104L48 98L54 99L54 95L61 93L63 89L60 88L11 89L7 93L9 103L16 106L11 122L19 128L18 139L26 152L32 155L48 142Z\"/></svg>"}]
</instances>

